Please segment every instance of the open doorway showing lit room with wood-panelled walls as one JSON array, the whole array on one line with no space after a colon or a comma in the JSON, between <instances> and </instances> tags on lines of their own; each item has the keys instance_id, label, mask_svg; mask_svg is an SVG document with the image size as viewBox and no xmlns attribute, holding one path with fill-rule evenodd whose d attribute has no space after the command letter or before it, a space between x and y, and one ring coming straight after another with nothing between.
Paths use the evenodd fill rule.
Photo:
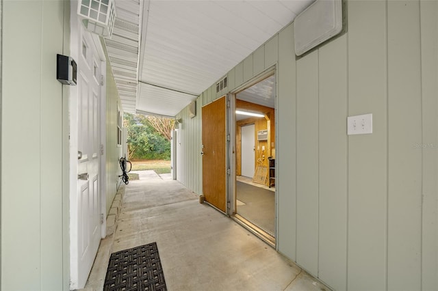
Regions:
<instances>
[{"instance_id":1,"label":"open doorway showing lit room with wood-panelled walls","mask_svg":"<svg viewBox=\"0 0 438 291\"><path fill-rule=\"evenodd\" d=\"M275 75L235 94L233 217L275 246Z\"/></svg>"}]
</instances>

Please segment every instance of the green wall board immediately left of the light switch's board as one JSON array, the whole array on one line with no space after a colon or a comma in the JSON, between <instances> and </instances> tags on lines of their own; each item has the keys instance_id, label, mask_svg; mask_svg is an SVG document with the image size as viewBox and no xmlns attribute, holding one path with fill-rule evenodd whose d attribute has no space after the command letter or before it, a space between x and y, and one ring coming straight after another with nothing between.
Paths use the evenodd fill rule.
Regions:
<instances>
[{"instance_id":1,"label":"green wall board immediately left of the light switch's board","mask_svg":"<svg viewBox=\"0 0 438 291\"><path fill-rule=\"evenodd\" d=\"M346 42L342 36L318 51L318 268L320 278L330 278L340 290L346 281L347 260Z\"/></svg>"}]
</instances>

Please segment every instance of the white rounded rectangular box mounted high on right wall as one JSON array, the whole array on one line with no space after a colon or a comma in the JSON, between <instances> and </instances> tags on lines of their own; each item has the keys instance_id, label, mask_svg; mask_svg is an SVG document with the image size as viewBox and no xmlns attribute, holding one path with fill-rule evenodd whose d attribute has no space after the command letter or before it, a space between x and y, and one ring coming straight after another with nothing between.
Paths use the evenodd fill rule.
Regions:
<instances>
[{"instance_id":1,"label":"white rounded rectangular box mounted high on right wall","mask_svg":"<svg viewBox=\"0 0 438 291\"><path fill-rule=\"evenodd\" d=\"M342 31L342 0L316 0L294 20L295 54L302 55Z\"/></svg>"}]
</instances>

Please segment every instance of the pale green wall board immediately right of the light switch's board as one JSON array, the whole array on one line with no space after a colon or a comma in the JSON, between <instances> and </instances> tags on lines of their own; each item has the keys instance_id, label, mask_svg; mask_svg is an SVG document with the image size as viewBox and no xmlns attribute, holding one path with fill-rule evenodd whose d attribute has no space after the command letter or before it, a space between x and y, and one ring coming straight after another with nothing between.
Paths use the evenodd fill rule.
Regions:
<instances>
[{"instance_id":1,"label":"pale green wall board immediately right of the light switch's board","mask_svg":"<svg viewBox=\"0 0 438 291\"><path fill-rule=\"evenodd\" d=\"M387 3L389 290L422 284L422 150L413 148L422 140L419 4Z\"/></svg>"}]
</instances>

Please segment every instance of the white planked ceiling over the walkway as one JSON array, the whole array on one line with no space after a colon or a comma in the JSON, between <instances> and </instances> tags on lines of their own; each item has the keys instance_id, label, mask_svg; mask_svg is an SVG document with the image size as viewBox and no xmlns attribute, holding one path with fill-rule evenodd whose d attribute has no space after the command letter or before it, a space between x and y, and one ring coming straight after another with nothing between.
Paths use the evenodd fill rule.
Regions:
<instances>
[{"instance_id":1,"label":"white planked ceiling over the walkway","mask_svg":"<svg viewBox=\"0 0 438 291\"><path fill-rule=\"evenodd\" d=\"M140 21L137 80L132 79L131 67L139 42L133 40L135 33L120 30L116 22L112 39L126 38L131 49L120 48L118 55L124 59L126 53L124 61L129 64L124 64L120 72L116 72L119 67L113 67L118 88L126 88L124 92L119 89L123 109L175 116L312 2L116 0L118 18L131 14L130 24ZM112 57L112 66L113 60L117 57Z\"/></svg>"}]
</instances>

